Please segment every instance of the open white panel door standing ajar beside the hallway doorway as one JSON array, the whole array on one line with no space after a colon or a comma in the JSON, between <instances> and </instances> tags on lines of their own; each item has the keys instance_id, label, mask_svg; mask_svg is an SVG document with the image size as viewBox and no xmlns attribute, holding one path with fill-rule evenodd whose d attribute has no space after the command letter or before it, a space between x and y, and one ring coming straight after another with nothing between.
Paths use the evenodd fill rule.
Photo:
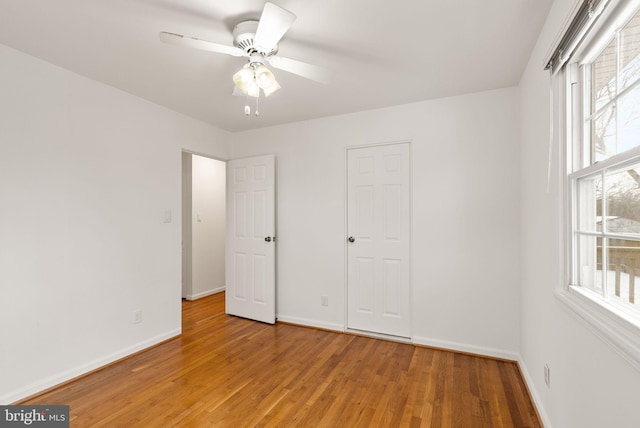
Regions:
<instances>
[{"instance_id":1,"label":"open white panel door standing ajar beside the hallway doorway","mask_svg":"<svg viewBox=\"0 0 640 428\"><path fill-rule=\"evenodd\" d=\"M226 312L275 323L275 159L227 163Z\"/></svg>"}]
</instances>

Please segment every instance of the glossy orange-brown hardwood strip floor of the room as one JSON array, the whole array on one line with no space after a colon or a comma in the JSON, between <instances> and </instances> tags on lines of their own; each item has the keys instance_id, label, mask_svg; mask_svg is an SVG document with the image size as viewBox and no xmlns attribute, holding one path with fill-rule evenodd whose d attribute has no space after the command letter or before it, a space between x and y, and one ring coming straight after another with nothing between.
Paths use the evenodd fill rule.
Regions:
<instances>
[{"instance_id":1,"label":"glossy orange-brown hardwood strip floor of the room","mask_svg":"<svg viewBox=\"0 0 640 428\"><path fill-rule=\"evenodd\" d=\"M21 404L72 427L540 427L515 363L183 303L181 337Z\"/></svg>"}]
</instances>

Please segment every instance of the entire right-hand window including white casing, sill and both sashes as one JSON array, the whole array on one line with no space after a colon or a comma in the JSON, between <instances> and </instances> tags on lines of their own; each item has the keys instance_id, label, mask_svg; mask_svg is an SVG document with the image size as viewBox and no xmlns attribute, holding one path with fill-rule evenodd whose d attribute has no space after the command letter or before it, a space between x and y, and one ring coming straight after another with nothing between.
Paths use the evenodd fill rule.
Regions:
<instances>
[{"instance_id":1,"label":"entire right-hand window including white casing, sill and both sashes","mask_svg":"<svg viewBox=\"0 0 640 428\"><path fill-rule=\"evenodd\" d=\"M640 370L640 1L585 0L547 69L567 148L556 295Z\"/></svg>"}]
</instances>

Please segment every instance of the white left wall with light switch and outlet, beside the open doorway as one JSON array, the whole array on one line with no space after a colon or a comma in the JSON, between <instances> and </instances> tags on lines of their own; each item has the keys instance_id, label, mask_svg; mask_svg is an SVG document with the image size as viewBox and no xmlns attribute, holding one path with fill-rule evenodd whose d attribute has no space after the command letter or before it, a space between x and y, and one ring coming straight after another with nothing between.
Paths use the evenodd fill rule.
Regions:
<instances>
[{"instance_id":1,"label":"white left wall with light switch and outlet, beside the open doorway","mask_svg":"<svg viewBox=\"0 0 640 428\"><path fill-rule=\"evenodd\" d=\"M4 404L180 333L181 148L228 133L2 45L0 75Z\"/></svg>"}]
</instances>

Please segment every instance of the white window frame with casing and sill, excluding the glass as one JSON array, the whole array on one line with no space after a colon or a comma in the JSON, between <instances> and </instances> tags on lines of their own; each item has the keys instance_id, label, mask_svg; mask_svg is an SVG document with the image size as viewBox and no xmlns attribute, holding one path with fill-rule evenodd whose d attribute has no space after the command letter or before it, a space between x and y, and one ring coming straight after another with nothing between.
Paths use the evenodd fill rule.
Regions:
<instances>
[{"instance_id":1,"label":"white window frame with casing and sill, excluding the glass","mask_svg":"<svg viewBox=\"0 0 640 428\"><path fill-rule=\"evenodd\" d=\"M564 150L559 150L559 168L561 184L559 188L561 216L561 254L564 259L564 269L561 272L561 286L555 290L555 296L571 314L585 322L603 341L637 370L640 370L640 316L631 309L624 308L622 304L609 300L603 293L578 285L579 263L577 259L577 240L581 233L578 226L578 183L580 179L606 174L608 170L615 170L624 164L640 162L640 146L625 152L611 156L605 160L591 163L592 147L587 129L587 121L591 113L590 98L586 96L587 73L590 73L590 64L600 52L610 43L613 37L624 27L640 7L634 7L633 11L618 12L617 25L601 26L591 29L578 48L578 53L571 58L552 77L552 136L553 128L557 128L556 136L564 141ZM620 21L620 15L626 19ZM604 28L603 28L604 27ZM560 90L558 90L560 89ZM621 96L618 94L617 97ZM557 97L557 98L555 98ZM559 114L554 114L556 110ZM554 123L556 126L554 126ZM562 146L561 146L562 147ZM585 165L585 157L589 157L588 165ZM577 167L576 167L577 166ZM602 231L597 234L604 243L610 235L619 234L607 232L604 224ZM640 286L640 284L639 284Z\"/></svg>"}]
</instances>

